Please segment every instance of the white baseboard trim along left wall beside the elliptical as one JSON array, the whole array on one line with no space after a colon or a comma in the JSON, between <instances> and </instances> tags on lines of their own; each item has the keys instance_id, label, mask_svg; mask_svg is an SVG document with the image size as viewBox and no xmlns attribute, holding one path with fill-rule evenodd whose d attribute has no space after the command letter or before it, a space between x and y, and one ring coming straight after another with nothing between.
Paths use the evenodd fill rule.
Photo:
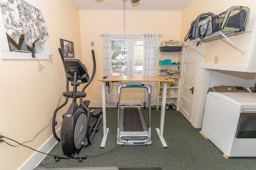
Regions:
<instances>
[{"instance_id":1,"label":"white baseboard trim along left wall beside the elliptical","mask_svg":"<svg viewBox=\"0 0 256 170\"><path fill-rule=\"evenodd\" d=\"M56 132L58 136L60 136L60 129ZM39 149L40 152L49 153L52 148L58 143L54 136L52 136L46 143ZM40 152L36 152L24 165L19 168L20 170L32 170L36 166L38 166L42 160L47 156L46 154L42 154Z\"/></svg>"}]
</instances>

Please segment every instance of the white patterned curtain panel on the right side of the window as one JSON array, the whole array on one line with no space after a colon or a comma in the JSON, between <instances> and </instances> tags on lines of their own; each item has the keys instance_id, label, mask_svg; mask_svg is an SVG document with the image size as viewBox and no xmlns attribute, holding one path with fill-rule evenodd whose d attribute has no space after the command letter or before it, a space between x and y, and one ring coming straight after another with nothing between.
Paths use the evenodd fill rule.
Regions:
<instances>
[{"instance_id":1,"label":"white patterned curtain panel on the right side of the window","mask_svg":"<svg viewBox=\"0 0 256 170\"><path fill-rule=\"evenodd\" d=\"M143 34L144 45L143 45L143 76L154 76L155 75L155 35L148 33ZM151 86L151 102L155 102L155 83L144 82ZM146 89L142 89L142 102L148 102L148 92ZM150 106L149 106L150 107Z\"/></svg>"}]
</instances>

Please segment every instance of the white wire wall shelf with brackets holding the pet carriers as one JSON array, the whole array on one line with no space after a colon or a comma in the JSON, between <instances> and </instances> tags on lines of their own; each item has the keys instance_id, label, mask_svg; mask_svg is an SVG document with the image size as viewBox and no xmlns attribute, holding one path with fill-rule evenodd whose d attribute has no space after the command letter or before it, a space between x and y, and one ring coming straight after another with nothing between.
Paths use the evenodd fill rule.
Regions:
<instances>
[{"instance_id":1,"label":"white wire wall shelf with brackets holding the pet carriers","mask_svg":"<svg viewBox=\"0 0 256 170\"><path fill-rule=\"evenodd\" d=\"M243 31L243 32L234 32L234 31L218 31L215 33L212 33L211 35L207 35L206 37L204 37L203 39L193 39L189 42L187 42L186 44L188 44L190 47L192 47L194 50L196 50L200 55L202 55L203 57L205 57L204 54L200 53L200 51L198 51L197 49L195 49L191 43L205 43L208 41L214 41L217 39L221 39L221 38L225 38L226 40L229 41L230 44L232 44L234 47L236 47L236 49L238 49L241 53L243 53L243 57L245 56L245 52L242 51L242 49L240 49L235 43L233 43L228 37L230 36L234 36L234 35L240 35L240 34L244 34L244 33L251 33L252 31Z\"/></svg>"}]
</instances>

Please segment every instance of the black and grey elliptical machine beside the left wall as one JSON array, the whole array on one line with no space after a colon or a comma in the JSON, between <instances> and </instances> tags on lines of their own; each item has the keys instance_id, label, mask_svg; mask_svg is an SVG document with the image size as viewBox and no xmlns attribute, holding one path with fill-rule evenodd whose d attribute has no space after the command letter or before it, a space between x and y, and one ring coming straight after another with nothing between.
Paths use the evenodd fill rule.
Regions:
<instances>
[{"instance_id":1,"label":"black and grey elliptical machine beside the left wall","mask_svg":"<svg viewBox=\"0 0 256 170\"><path fill-rule=\"evenodd\" d=\"M66 72L66 92L63 93L66 100L54 111L52 119L52 133L55 139L61 143L64 156L59 154L54 156L54 158L56 162L58 162L60 158L79 159L79 162L82 162L83 158L86 158L87 156L78 156L77 154L79 154L83 146L91 145L94 133L98 131L98 125L102 119L101 108L89 110L88 105L90 104L90 101L82 101L82 98L86 96L84 90L92 82L96 70L94 50L92 50L94 68L90 80L87 68L84 64L82 64L78 59L64 59L61 49L59 48L58 50ZM73 86L73 91L69 91L69 81L71 82L71 86ZM77 91L77 86L86 82L87 84L81 92ZM69 98L72 98L72 103L68 107L68 111L62 115L63 120L59 138L55 131L56 113L67 104ZM77 98L80 98L79 106L76 102ZM92 125L89 124L90 117L96 118L96 121L94 121Z\"/></svg>"}]
</instances>

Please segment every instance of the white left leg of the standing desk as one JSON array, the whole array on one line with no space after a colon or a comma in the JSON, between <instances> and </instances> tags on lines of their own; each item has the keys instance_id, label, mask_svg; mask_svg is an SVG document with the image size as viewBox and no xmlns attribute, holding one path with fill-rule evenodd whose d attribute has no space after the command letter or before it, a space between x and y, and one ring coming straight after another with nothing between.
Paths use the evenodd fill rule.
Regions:
<instances>
[{"instance_id":1,"label":"white left leg of the standing desk","mask_svg":"<svg viewBox=\"0 0 256 170\"><path fill-rule=\"evenodd\" d=\"M102 82L102 114L103 114L103 139L100 148L105 147L108 136L108 128L106 124L106 95L105 95L105 82Z\"/></svg>"}]
</instances>

